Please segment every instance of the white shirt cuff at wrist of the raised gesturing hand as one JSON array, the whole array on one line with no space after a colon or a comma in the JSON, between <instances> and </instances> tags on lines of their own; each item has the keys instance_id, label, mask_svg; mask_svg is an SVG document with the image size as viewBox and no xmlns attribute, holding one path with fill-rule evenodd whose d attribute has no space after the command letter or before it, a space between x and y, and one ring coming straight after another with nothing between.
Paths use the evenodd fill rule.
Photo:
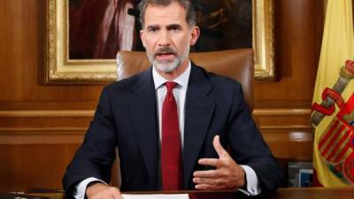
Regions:
<instances>
[{"instance_id":1,"label":"white shirt cuff at wrist of the raised gesturing hand","mask_svg":"<svg viewBox=\"0 0 354 199\"><path fill-rule=\"evenodd\" d=\"M248 165L240 165L246 175L246 188L239 188L238 190L241 191L245 195L259 195L261 192L261 188L259 187L258 177L256 172L250 168Z\"/></svg>"}]
</instances>

